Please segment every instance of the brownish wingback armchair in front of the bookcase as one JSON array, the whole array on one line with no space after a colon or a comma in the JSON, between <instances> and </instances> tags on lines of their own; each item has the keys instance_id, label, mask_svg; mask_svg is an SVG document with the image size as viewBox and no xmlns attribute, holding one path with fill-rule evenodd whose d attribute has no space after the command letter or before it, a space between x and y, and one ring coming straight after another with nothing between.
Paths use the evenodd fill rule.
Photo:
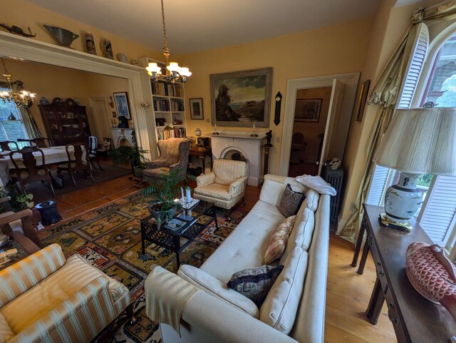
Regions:
<instances>
[{"instance_id":1,"label":"brownish wingback armchair in front of the bookcase","mask_svg":"<svg viewBox=\"0 0 456 343\"><path fill-rule=\"evenodd\" d=\"M158 141L158 151L160 158L147 162L142 176L145 181L161 178L170 173L170 170L182 170L182 174L187 173L188 153L190 150L190 140L186 138L168 138Z\"/></svg>"}]
</instances>

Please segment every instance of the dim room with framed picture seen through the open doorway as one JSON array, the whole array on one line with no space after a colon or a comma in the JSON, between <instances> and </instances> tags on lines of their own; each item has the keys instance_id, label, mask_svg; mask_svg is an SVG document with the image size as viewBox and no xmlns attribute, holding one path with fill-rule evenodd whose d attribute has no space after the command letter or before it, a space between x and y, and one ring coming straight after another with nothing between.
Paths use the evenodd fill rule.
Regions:
<instances>
[{"instance_id":1,"label":"dim room with framed picture seen through the open doorway","mask_svg":"<svg viewBox=\"0 0 456 343\"><path fill-rule=\"evenodd\" d=\"M288 175L316 175L328 118L332 87L296 91Z\"/></svg>"}]
</instances>

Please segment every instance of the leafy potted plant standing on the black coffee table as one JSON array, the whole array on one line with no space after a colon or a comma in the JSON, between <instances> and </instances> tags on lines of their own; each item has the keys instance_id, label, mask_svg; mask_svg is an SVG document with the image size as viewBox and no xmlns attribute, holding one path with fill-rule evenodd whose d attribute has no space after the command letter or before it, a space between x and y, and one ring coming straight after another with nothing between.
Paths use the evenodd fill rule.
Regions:
<instances>
[{"instance_id":1,"label":"leafy potted plant standing on the black coffee table","mask_svg":"<svg viewBox=\"0 0 456 343\"><path fill-rule=\"evenodd\" d=\"M196 180L195 176L185 175L182 170L174 169L141 191L143 195L155 197L155 200L150 203L149 211L152 217L157 220L158 230L160 230L162 223L171 220L177 209L182 207L176 200L180 198L180 185L190 180Z\"/></svg>"}]
</instances>

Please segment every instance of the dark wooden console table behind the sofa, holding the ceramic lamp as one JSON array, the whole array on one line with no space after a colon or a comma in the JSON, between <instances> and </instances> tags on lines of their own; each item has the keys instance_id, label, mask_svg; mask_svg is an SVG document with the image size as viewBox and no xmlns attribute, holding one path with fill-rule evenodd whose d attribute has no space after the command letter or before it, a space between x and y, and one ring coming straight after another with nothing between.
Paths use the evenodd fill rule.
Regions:
<instances>
[{"instance_id":1,"label":"dark wooden console table behind the sofa, holding the ceramic lamp","mask_svg":"<svg viewBox=\"0 0 456 343\"><path fill-rule=\"evenodd\" d=\"M388 305L388 317L393 323L398 343L448 343L456 336L456 321L444 307L422 297L405 274L405 250L412 242L432 244L418 222L413 230L403 232L380 225L378 216L384 210L363 205L364 217L353 257L356 266L364 232L366 244L361 257L359 274L363 274L368 252L371 251L377 270L371 300L366 310L369 322L377 324L383 302Z\"/></svg>"}]
</instances>

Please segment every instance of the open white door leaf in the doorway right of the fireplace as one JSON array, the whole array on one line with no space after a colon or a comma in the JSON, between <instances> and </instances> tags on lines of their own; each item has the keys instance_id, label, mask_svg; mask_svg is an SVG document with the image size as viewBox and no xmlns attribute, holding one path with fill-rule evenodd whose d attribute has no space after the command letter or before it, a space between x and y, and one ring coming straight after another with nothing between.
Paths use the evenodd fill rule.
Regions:
<instances>
[{"instance_id":1,"label":"open white door leaf in the doorway right of the fireplace","mask_svg":"<svg viewBox=\"0 0 456 343\"><path fill-rule=\"evenodd\" d=\"M333 81L333 90L331 91L331 100L329 101L328 118L326 119L325 136L323 138L323 145L321 147L320 160L317 161L318 175L321 174L321 168L328 158L333 158L334 143L336 137L336 123L341 109L343 99L343 91L345 90L345 83L338 81L337 78Z\"/></svg>"}]
</instances>

